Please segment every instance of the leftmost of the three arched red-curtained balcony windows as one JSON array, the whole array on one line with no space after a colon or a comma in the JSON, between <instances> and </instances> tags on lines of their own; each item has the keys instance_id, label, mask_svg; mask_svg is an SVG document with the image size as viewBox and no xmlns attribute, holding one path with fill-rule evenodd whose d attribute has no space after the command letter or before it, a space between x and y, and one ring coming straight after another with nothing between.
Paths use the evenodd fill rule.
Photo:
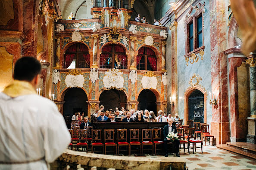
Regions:
<instances>
[{"instance_id":1,"label":"leftmost of the three arched red-curtained balcony windows","mask_svg":"<svg viewBox=\"0 0 256 170\"><path fill-rule=\"evenodd\" d=\"M64 68L90 68L90 54L87 46L82 43L70 46L65 53Z\"/></svg>"}]
</instances>

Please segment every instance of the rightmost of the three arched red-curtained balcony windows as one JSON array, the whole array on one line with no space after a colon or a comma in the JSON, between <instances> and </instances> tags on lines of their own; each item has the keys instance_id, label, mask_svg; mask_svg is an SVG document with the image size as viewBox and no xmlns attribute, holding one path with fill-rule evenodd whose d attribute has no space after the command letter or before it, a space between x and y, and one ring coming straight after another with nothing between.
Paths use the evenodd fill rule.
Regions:
<instances>
[{"instance_id":1,"label":"rightmost of the three arched red-curtained balcony windows","mask_svg":"<svg viewBox=\"0 0 256 170\"><path fill-rule=\"evenodd\" d=\"M141 47L137 55L137 70L156 71L156 54L148 47Z\"/></svg>"}]
</instances>

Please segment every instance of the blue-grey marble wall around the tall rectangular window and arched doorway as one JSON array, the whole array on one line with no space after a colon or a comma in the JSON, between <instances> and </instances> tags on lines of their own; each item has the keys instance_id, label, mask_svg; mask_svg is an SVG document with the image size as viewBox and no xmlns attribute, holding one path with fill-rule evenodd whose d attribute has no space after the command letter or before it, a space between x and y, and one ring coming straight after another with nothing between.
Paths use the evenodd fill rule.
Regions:
<instances>
[{"instance_id":1,"label":"blue-grey marble wall around the tall rectangular window and arched doorway","mask_svg":"<svg viewBox=\"0 0 256 170\"><path fill-rule=\"evenodd\" d=\"M175 103L175 107L178 107L178 114L180 118L184 119L184 92L190 86L189 80L190 77L193 76L194 73L199 74L202 77L202 81L200 81L200 85L202 85L207 93L211 91L211 46L210 46L210 10L209 10L209 1L201 1L201 3L205 2L205 13L204 16L204 27L203 27L203 39L204 39L204 55L203 61L199 59L197 63L186 65L186 61L184 58L185 55L185 35L184 35L184 19L178 18L178 27L177 27L177 78L178 78L178 103ZM193 3L193 5L197 5L197 3ZM187 13L188 10L185 12ZM172 83L171 83L171 75L172 75L172 36L171 31L169 30L169 36L167 38L167 47L166 47L166 70L168 73L167 76L167 99L168 103L170 102L170 96L172 93ZM206 113L207 115L207 124L210 124L212 120L212 106L209 104L209 97L206 102ZM171 106L168 106L168 112L171 112ZM172 113L175 114L175 113Z\"/></svg>"}]
</instances>

